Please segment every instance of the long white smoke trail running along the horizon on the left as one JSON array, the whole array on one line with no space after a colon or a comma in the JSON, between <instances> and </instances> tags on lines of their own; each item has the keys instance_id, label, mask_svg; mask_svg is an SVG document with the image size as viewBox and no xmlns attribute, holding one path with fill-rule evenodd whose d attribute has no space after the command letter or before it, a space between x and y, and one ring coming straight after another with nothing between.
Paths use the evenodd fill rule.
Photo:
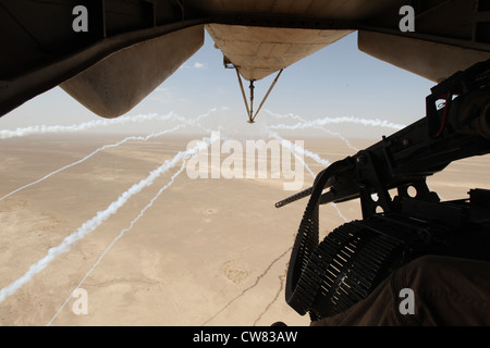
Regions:
<instances>
[{"instance_id":1,"label":"long white smoke trail running along the horizon on the left","mask_svg":"<svg viewBox=\"0 0 490 348\"><path fill-rule=\"evenodd\" d=\"M196 120L192 121L189 124L200 126L198 122L201 117L206 117L211 112L215 112L217 110L224 110L224 109L228 109L228 108L225 108L225 107L213 108L208 113L197 116ZM34 125L34 126L29 126L29 127L25 127L25 128L16 128L14 130L5 129L5 130L0 130L0 139L24 137L24 136L33 135L33 134L75 133L75 132L81 132L81 130L98 128L98 127L123 125L126 123L136 123L136 122L143 123L143 122L148 122L148 121L168 121L168 120L189 122L188 120L175 114L174 112L170 112L164 115L159 115L156 113L138 114L138 115L132 115L132 116L120 116L120 117L115 117L115 119L101 119L101 120L88 121L88 122L83 122L79 124L73 124L70 126Z\"/></svg>"}]
</instances>

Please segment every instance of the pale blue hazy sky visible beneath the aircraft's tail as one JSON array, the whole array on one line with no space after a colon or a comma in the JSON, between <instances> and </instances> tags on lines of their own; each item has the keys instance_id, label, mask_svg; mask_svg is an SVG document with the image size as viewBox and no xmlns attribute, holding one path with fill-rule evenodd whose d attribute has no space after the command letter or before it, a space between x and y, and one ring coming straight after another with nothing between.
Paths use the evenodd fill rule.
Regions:
<instances>
[{"instance_id":1,"label":"pale blue hazy sky visible beneath the aircraft's tail","mask_svg":"<svg viewBox=\"0 0 490 348\"><path fill-rule=\"evenodd\" d=\"M256 83L255 105L274 76ZM409 124L424 116L425 97L433 85L426 78L360 52L357 33L354 33L285 69L262 110L277 114L293 113L305 120L355 116ZM209 126L254 132L252 127L260 127L261 121L273 121L261 112L256 125L246 123L236 74L223 67L222 53L213 47L206 33L203 48L127 115L174 111L194 117L219 107L228 109L209 119ZM1 117L0 129L41 124L71 125L90 120L100 117L57 87ZM135 125L132 127L139 129ZM346 137L378 137L391 133L352 124L332 127Z\"/></svg>"}]
</instances>

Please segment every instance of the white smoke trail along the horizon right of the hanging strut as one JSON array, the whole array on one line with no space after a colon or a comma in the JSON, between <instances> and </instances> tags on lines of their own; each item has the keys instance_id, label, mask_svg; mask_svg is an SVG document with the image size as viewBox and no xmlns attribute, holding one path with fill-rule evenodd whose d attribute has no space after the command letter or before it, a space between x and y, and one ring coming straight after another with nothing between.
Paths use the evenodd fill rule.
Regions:
<instances>
[{"instance_id":1,"label":"white smoke trail along the horizon right of the hanging strut","mask_svg":"<svg viewBox=\"0 0 490 348\"><path fill-rule=\"evenodd\" d=\"M274 113L271 113L269 111L269 113L271 115L277 115ZM289 114L290 115L290 114ZM286 115L286 116L289 116ZM347 116L343 116L343 117L323 117L323 119L317 119L314 121L305 121L304 119L296 116L296 115L290 115L293 119L299 120L298 123L296 123L295 125L285 125L285 124L280 124L280 125L271 125L270 127L272 129L305 129L305 128L310 128L314 126L324 126L327 124L340 124L340 123L356 123L356 124L362 124L364 126L371 126L371 127L384 127L384 128L391 128L394 130L400 130L402 128L405 127L405 125L403 124L397 124L397 123L393 123L393 122L389 122L385 120L368 120L368 119L359 119L359 117L347 117Z\"/></svg>"}]
</instances>

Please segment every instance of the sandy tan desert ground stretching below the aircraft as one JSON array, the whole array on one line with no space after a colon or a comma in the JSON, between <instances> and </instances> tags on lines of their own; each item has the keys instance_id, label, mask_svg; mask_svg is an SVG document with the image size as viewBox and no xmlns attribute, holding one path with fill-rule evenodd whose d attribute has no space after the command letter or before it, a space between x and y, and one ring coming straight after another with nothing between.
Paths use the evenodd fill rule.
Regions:
<instances>
[{"instance_id":1,"label":"sandy tan desert ground stretching below the aircraft","mask_svg":"<svg viewBox=\"0 0 490 348\"><path fill-rule=\"evenodd\" d=\"M33 135L1 140L0 197L123 137ZM168 135L128 141L1 199L0 288L195 138ZM359 149L375 141L351 140ZM305 139L305 148L330 162L354 154L339 139ZM323 167L305 161L315 173ZM183 171L131 225L180 166L131 197L7 296L0 303L0 324L308 325L308 318L284 300L290 252L306 200L275 209L274 202L294 194L283 190L284 178L192 179ZM469 188L490 187L487 173L487 157L468 159L429 178L429 185L444 199L465 198ZM303 188L311 183L305 171ZM338 208L322 207L322 233L344 217L360 217L358 201ZM72 296L77 287L85 290L86 311L79 311L78 297Z\"/></svg>"}]
</instances>

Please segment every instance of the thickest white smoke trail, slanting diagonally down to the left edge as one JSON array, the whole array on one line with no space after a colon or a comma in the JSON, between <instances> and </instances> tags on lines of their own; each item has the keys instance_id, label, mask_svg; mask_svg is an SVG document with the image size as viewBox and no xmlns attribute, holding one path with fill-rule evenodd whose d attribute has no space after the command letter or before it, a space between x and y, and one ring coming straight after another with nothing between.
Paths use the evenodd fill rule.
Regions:
<instances>
[{"instance_id":1,"label":"thickest white smoke trail, slanting diagonally down to the left edge","mask_svg":"<svg viewBox=\"0 0 490 348\"><path fill-rule=\"evenodd\" d=\"M211 134L210 138L203 138L203 141L198 141L198 144L186 151L180 151L172 160L167 160L158 169L151 171L149 175L142 179L139 183L134 184L130 189L123 192L115 201L109 204L105 210L99 211L94 217L86 221L77 231L72 233L70 236L65 237L63 241L51 249L48 250L48 253L32 264L29 270L21 276L19 279L10 284L9 286L2 288L0 290L0 303L3 300L17 291L23 285L29 282L37 273L41 272L49 263L51 263L56 258L70 251L70 248L73 244L79 241L89 233L94 232L98 226L100 226L105 221L107 221L111 215L113 215L118 210L123 207L131 197L140 192L145 187L150 186L161 174L166 173L170 169L174 167L175 164L180 161L186 160L195 154L197 154L200 150L207 148L212 141L216 139Z\"/></svg>"}]
</instances>

